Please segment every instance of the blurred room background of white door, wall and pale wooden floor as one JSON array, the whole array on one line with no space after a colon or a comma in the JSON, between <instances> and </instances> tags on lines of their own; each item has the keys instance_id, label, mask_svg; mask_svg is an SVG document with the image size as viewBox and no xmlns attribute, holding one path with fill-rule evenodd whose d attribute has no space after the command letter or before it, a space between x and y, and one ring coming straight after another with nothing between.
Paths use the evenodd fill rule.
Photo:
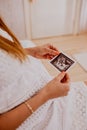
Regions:
<instances>
[{"instance_id":1,"label":"blurred room background of white door, wall and pale wooden floor","mask_svg":"<svg viewBox=\"0 0 87 130\"><path fill-rule=\"evenodd\" d=\"M0 0L0 15L20 40L51 43L71 57L87 53L87 0ZM59 73L46 60L42 63L52 76ZM78 63L69 75L72 81L87 80Z\"/></svg>"}]
</instances>

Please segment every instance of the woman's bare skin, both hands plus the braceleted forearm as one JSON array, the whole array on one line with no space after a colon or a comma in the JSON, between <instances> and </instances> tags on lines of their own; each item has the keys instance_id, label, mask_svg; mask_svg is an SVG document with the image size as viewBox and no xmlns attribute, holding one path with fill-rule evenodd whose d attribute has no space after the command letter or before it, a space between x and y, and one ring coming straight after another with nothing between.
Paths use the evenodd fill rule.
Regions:
<instances>
[{"instance_id":1,"label":"woman's bare skin, both hands plus the braceleted forearm","mask_svg":"<svg viewBox=\"0 0 87 130\"><path fill-rule=\"evenodd\" d=\"M39 59L51 59L55 55L59 54L59 51L49 44L34 48L26 48L25 50L27 54ZM30 106L32 106L33 111L36 111L41 105L43 105L48 100L66 96L69 90L69 75L65 72L62 72L53 80L48 82L45 86L43 86L43 89L41 89L36 95L28 99L27 103L29 103ZM0 130L15 130L31 114L31 111L27 108L25 103L19 104L12 110L0 115Z\"/></svg>"}]
</instances>

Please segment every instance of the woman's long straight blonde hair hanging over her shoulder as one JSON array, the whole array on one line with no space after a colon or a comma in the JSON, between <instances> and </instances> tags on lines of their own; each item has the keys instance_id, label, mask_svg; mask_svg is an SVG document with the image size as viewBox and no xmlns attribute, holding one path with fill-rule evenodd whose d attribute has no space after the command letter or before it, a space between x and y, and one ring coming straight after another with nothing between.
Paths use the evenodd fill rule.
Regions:
<instances>
[{"instance_id":1,"label":"woman's long straight blonde hair hanging over her shoulder","mask_svg":"<svg viewBox=\"0 0 87 130\"><path fill-rule=\"evenodd\" d=\"M15 35L4 23L1 17L0 17L0 28L6 31L12 38L11 41L3 36L0 36L0 48L5 50L9 54L12 54L13 56L17 57L20 61L24 61L27 57L25 50L23 49L23 47L21 46L20 42L15 37Z\"/></svg>"}]
</instances>

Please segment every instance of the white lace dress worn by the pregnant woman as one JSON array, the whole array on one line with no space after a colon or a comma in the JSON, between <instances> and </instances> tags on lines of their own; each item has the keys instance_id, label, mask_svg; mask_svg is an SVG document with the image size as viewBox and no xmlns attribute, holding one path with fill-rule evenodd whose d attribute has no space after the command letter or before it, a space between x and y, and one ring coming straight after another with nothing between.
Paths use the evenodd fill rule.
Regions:
<instances>
[{"instance_id":1,"label":"white lace dress worn by the pregnant woman","mask_svg":"<svg viewBox=\"0 0 87 130\"><path fill-rule=\"evenodd\" d=\"M21 64L0 50L0 114L24 102L51 79L39 60L29 57ZM67 97L46 102L17 130L87 130L86 85L72 83Z\"/></svg>"}]
</instances>

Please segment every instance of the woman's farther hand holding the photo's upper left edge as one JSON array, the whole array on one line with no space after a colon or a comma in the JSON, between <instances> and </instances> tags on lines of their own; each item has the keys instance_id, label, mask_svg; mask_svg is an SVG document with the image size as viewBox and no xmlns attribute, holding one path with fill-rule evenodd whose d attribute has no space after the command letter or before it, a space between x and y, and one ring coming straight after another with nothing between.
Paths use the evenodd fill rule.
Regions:
<instances>
[{"instance_id":1,"label":"woman's farther hand holding the photo's upper left edge","mask_svg":"<svg viewBox=\"0 0 87 130\"><path fill-rule=\"evenodd\" d=\"M51 44L45 44L37 47L26 48L27 54L39 59L52 59L59 54L56 47Z\"/></svg>"}]
</instances>

